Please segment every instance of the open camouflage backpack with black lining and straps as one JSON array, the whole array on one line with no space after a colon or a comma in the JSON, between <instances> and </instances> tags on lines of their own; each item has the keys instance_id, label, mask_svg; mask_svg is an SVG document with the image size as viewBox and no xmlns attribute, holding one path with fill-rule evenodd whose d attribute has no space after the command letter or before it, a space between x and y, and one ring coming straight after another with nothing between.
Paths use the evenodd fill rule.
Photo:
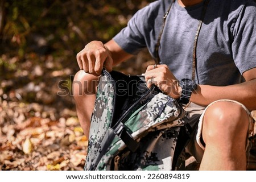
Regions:
<instances>
[{"instance_id":1,"label":"open camouflage backpack with black lining and straps","mask_svg":"<svg viewBox=\"0 0 256 182\"><path fill-rule=\"evenodd\" d=\"M148 89L143 76L104 70L84 169L180 169L188 141L186 124L183 107L156 86Z\"/></svg>"}]
</instances>

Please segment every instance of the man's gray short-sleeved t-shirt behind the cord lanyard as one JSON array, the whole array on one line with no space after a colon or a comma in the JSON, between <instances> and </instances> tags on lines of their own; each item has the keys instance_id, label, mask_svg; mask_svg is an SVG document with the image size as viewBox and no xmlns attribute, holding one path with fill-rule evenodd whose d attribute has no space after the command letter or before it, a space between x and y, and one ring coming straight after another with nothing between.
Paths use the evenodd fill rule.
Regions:
<instances>
[{"instance_id":1,"label":"man's gray short-sleeved t-shirt behind the cord lanyard","mask_svg":"<svg viewBox=\"0 0 256 182\"><path fill-rule=\"evenodd\" d=\"M126 52L155 44L163 16L172 0L160 0L139 10L114 37ZM159 57L177 79L191 78L193 42L203 2L172 5L160 40ZM200 84L225 86L242 82L241 74L256 67L256 3L252 0L210 0L197 43L197 77Z\"/></svg>"}]
</instances>

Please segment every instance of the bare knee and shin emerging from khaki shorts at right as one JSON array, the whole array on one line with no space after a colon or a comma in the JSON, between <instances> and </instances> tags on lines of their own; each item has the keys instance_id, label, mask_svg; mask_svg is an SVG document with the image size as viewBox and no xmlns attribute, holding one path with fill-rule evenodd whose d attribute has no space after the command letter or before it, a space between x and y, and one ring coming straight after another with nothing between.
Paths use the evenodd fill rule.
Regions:
<instances>
[{"instance_id":1,"label":"bare knee and shin emerging from khaki shorts at right","mask_svg":"<svg viewBox=\"0 0 256 182\"><path fill-rule=\"evenodd\" d=\"M248 115L242 106L220 101L205 112L205 152L200 170L245 170Z\"/></svg>"}]
</instances>

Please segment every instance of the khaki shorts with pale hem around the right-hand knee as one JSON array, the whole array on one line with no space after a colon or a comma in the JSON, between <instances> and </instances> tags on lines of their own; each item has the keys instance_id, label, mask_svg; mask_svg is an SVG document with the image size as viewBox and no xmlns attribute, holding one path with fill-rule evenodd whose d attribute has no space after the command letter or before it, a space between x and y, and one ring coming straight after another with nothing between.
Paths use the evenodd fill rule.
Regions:
<instances>
[{"instance_id":1,"label":"khaki shorts with pale hem around the right-hand knee","mask_svg":"<svg viewBox=\"0 0 256 182\"><path fill-rule=\"evenodd\" d=\"M188 146L186 148L187 152L189 154L193 155L197 162L201 162L201 159L203 158L205 145L202 138L202 130L203 130L203 118L205 111L211 106L212 104L219 102L219 101L226 101L226 102L234 102L243 107L243 109L246 110L248 117L249 117L249 130L248 130L248 140L247 140L247 148L249 146L249 137L253 135L254 130L254 119L251 116L250 111L240 102L233 101L233 100L218 100L214 101L211 104L209 104L206 108L201 107L199 105L191 103L185 110L189 113L189 123L191 123L191 126L195 128L195 133L192 134L192 140L188 143Z\"/></svg>"}]
</instances>

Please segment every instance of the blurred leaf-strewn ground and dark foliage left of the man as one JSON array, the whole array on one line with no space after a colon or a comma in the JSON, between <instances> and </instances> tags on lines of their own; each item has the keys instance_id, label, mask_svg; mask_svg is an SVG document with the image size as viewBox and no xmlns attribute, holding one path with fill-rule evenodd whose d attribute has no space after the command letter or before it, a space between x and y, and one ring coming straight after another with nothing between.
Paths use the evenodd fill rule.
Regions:
<instances>
[{"instance_id":1,"label":"blurred leaf-strewn ground and dark foliage left of the man","mask_svg":"<svg viewBox=\"0 0 256 182\"><path fill-rule=\"evenodd\" d=\"M107 42L149 2L0 0L0 170L82 169L88 140L72 98L76 54ZM114 69L139 74L151 63L142 51Z\"/></svg>"}]
</instances>

